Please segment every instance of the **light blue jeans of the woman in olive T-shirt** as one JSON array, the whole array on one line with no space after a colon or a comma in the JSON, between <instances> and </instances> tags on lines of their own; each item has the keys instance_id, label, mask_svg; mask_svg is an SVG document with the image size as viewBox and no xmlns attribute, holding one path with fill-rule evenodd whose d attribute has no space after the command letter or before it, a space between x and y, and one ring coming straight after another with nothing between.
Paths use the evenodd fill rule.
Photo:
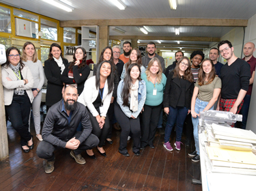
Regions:
<instances>
[{"instance_id":1,"label":"light blue jeans of the woman in olive T-shirt","mask_svg":"<svg viewBox=\"0 0 256 191\"><path fill-rule=\"evenodd\" d=\"M209 102L203 102L197 98L197 100L195 101L195 113L199 114L200 111L203 111L203 109L208 105L208 103ZM213 109L214 109L214 105L209 110L213 110ZM197 154L200 155L198 128L197 128L198 123L199 123L199 117L198 116L197 116L197 118L192 117L192 123L193 123L193 127L194 127L195 149L197 150Z\"/></svg>"}]
</instances>

